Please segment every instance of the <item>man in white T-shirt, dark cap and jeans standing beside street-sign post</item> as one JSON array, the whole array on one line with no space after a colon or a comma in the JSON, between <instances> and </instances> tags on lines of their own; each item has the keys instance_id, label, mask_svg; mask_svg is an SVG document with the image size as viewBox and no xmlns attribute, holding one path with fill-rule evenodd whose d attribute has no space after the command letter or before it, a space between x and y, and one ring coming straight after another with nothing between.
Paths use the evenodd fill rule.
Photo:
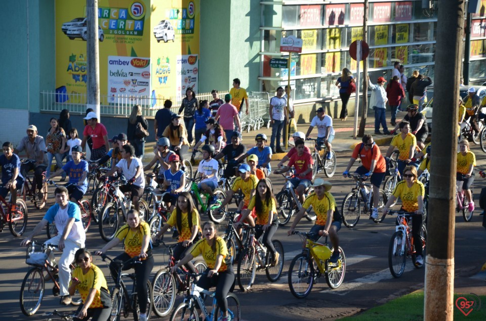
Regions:
<instances>
[{"instance_id":1,"label":"man in white T-shirt, dark cap and jeans standing beside street-sign post","mask_svg":"<svg viewBox=\"0 0 486 321\"><path fill-rule=\"evenodd\" d=\"M272 137L270 139L270 148L272 149L272 154L275 154L275 151L277 153L284 153L284 150L282 150L280 146L280 136L287 118L287 100L282 96L284 96L284 88L278 87L277 96L270 99L270 108L268 110L268 113L270 114L270 124L272 125ZM277 140L276 149L275 138ZM284 143L283 140L282 143Z\"/></svg>"}]
</instances>

